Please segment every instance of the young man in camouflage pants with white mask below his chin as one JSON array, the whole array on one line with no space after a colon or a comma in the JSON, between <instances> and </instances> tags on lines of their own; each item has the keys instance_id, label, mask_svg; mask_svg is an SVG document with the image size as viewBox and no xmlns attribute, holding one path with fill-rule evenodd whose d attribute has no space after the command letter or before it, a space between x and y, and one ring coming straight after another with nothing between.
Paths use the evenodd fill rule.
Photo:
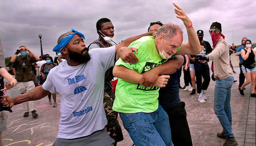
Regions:
<instances>
[{"instance_id":1,"label":"young man in camouflage pants with white mask below his chin","mask_svg":"<svg viewBox=\"0 0 256 146\"><path fill-rule=\"evenodd\" d=\"M114 37L114 26L112 22L107 18L101 18L96 22L97 33L99 34L99 38L88 45L88 49L91 50L93 48L105 48L112 45L115 45L111 40ZM111 40L110 40L111 39ZM113 91L113 86L111 84L111 80L114 79L112 74L113 67L110 67L105 73L105 83L104 83L104 99L103 106L105 108L105 113L107 117L107 125L106 129L109 133L110 137L117 142L122 141L124 139L122 135L122 129L117 120L117 112L112 110L112 105L115 99L115 94ZM116 145L115 143L115 145Z\"/></svg>"}]
</instances>

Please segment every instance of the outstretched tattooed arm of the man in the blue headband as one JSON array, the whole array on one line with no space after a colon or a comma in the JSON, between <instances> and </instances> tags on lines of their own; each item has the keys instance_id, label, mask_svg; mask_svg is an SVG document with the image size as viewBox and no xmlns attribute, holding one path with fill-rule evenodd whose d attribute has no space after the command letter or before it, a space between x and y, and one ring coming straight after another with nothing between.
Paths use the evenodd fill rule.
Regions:
<instances>
[{"instance_id":1,"label":"outstretched tattooed arm of the man in the blue headband","mask_svg":"<svg viewBox=\"0 0 256 146\"><path fill-rule=\"evenodd\" d=\"M37 86L34 89L24 94L21 94L19 96L16 96L14 98L10 97L9 95L2 96L2 98L0 99L0 102L3 106L12 107L14 105L21 104L23 102L42 99L49 94L50 92L47 90L44 90L42 86Z\"/></svg>"}]
</instances>

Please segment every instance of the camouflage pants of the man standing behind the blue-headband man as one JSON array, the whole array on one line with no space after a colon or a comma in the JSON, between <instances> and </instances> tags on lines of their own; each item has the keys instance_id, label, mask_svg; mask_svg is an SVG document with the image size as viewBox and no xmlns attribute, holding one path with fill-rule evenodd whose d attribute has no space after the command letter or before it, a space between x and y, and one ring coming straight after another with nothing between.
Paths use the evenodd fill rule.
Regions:
<instances>
[{"instance_id":1,"label":"camouflage pants of the man standing behind the blue-headband man","mask_svg":"<svg viewBox=\"0 0 256 146\"><path fill-rule=\"evenodd\" d=\"M121 126L117 120L118 112L112 109L113 102L115 99L115 94L110 89L104 90L104 109L107 117L107 133L110 135L112 139L116 142L124 140Z\"/></svg>"}]
</instances>

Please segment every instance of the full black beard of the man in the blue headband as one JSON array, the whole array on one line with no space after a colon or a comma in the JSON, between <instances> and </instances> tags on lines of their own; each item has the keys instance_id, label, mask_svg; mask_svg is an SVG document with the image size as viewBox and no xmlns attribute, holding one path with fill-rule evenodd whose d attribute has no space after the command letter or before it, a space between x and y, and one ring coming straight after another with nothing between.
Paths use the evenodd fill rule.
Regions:
<instances>
[{"instance_id":1,"label":"full black beard of the man in the blue headband","mask_svg":"<svg viewBox=\"0 0 256 146\"><path fill-rule=\"evenodd\" d=\"M88 49L87 47L85 47L81 53L78 53L78 52L72 52L70 51L69 49L67 49L67 51L69 52L69 57L70 59L74 60L74 61L77 61L77 62L81 62L81 63L86 63L88 61L90 61L91 57L90 57L90 54L88 53ZM84 51L87 51L86 54L82 54Z\"/></svg>"}]
</instances>

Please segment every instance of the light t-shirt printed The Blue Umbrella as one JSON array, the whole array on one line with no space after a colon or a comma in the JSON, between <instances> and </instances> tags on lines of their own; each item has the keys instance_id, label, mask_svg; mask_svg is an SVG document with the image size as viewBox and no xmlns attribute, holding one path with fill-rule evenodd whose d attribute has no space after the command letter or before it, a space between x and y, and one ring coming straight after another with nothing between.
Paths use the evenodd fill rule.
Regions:
<instances>
[{"instance_id":1,"label":"light t-shirt printed The Blue Umbrella","mask_svg":"<svg viewBox=\"0 0 256 146\"><path fill-rule=\"evenodd\" d=\"M89 51L91 60L69 66L65 60L50 70L44 90L61 95L57 138L74 139L101 130L107 124L103 107L104 77L114 66L115 46Z\"/></svg>"}]
</instances>

